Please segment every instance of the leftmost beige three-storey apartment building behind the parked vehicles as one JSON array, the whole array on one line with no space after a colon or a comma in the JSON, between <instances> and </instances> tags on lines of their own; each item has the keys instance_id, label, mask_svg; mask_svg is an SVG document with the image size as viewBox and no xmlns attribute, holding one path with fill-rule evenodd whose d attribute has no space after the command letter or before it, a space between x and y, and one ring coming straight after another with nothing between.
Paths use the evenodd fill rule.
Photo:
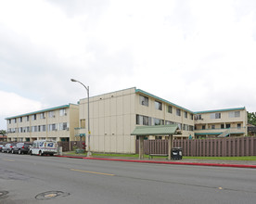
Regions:
<instances>
[{"instance_id":1,"label":"leftmost beige three-storey apartment building behind the parked vehicles","mask_svg":"<svg viewBox=\"0 0 256 204\"><path fill-rule=\"evenodd\" d=\"M7 140L32 142L38 139L74 141L79 106L74 104L47 108L6 118Z\"/></svg>"}]
</instances>

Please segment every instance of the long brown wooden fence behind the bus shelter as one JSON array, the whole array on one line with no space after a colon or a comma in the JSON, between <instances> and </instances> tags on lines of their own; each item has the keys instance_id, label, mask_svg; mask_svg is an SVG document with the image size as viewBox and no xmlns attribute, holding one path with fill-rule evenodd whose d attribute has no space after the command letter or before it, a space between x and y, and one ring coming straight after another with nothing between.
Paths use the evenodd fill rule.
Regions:
<instances>
[{"instance_id":1,"label":"long brown wooden fence behind the bus shelter","mask_svg":"<svg viewBox=\"0 0 256 204\"><path fill-rule=\"evenodd\" d=\"M182 147L183 155L190 157L256 156L256 137L174 140L173 147ZM138 153L138 140L136 141ZM168 140L145 140L145 154L167 154Z\"/></svg>"}]
</instances>

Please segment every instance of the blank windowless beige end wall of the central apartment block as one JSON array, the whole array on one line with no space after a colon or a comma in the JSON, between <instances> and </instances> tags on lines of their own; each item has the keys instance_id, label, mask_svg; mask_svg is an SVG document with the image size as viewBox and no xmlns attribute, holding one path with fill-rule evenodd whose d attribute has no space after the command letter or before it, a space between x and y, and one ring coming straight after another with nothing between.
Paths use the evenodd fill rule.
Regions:
<instances>
[{"instance_id":1,"label":"blank windowless beige end wall of the central apartment block","mask_svg":"<svg viewBox=\"0 0 256 204\"><path fill-rule=\"evenodd\" d=\"M134 88L90 98L91 150L135 152ZM88 144L87 99L80 100L80 120L85 119Z\"/></svg>"}]
</instances>

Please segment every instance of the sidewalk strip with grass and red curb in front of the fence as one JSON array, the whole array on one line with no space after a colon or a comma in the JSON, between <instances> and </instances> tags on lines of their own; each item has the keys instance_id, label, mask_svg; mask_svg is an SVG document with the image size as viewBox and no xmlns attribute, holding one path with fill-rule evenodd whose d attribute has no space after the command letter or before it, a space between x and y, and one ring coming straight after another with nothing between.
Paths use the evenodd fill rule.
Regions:
<instances>
[{"instance_id":1,"label":"sidewalk strip with grass and red curb in front of the fence","mask_svg":"<svg viewBox=\"0 0 256 204\"><path fill-rule=\"evenodd\" d=\"M167 160L165 158L153 159L138 159L131 157L111 157L111 156L93 156L87 158L85 155L69 154L63 152L62 156L73 159L101 159L101 160L115 160L126 162L143 162L143 163L161 163L161 164L177 164L177 165L196 165L196 166L219 166L219 167L237 167L237 168L255 168L256 160L219 160L219 159L182 159L182 160Z\"/></svg>"}]
</instances>

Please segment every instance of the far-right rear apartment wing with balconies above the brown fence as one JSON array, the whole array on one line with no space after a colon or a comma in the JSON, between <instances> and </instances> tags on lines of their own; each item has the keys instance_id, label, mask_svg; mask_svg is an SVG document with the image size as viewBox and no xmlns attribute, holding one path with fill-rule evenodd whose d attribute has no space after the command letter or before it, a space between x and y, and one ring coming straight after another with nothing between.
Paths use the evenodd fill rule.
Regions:
<instances>
[{"instance_id":1,"label":"far-right rear apartment wing with balconies above the brown fence","mask_svg":"<svg viewBox=\"0 0 256 204\"><path fill-rule=\"evenodd\" d=\"M216 109L194 113L196 138L248 134L246 108Z\"/></svg>"}]
</instances>

